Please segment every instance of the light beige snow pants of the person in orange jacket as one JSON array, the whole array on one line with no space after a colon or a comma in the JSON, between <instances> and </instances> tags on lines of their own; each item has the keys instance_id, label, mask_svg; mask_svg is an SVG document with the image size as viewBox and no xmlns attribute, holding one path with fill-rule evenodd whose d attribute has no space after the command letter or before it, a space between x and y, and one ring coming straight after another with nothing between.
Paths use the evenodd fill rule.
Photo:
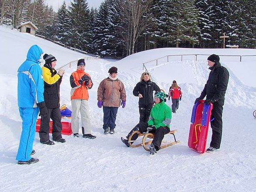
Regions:
<instances>
[{"instance_id":1,"label":"light beige snow pants of the person in orange jacket","mask_svg":"<svg viewBox=\"0 0 256 192\"><path fill-rule=\"evenodd\" d=\"M72 99L72 115L71 115L71 129L73 133L79 132L79 111L81 113L82 127L84 128L83 134L91 134L91 122L89 116L88 101L84 99Z\"/></svg>"}]
</instances>

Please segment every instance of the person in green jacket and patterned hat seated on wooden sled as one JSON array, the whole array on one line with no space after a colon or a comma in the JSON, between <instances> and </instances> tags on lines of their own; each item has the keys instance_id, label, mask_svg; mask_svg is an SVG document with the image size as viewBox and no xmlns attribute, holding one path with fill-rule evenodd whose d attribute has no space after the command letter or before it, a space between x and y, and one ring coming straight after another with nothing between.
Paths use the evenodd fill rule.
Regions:
<instances>
[{"instance_id":1,"label":"person in green jacket and patterned hat seated on wooden sled","mask_svg":"<svg viewBox=\"0 0 256 192\"><path fill-rule=\"evenodd\" d=\"M152 108L150 117L147 123L139 123L126 136L127 139L121 137L121 141L129 147L128 138L134 131L145 133L147 128L152 128L151 133L155 133L155 137L150 145L150 155L155 155L156 151L160 149L164 135L170 132L170 123L172 119L172 109L165 104L166 95L163 92L158 92L155 95L155 106ZM135 141L138 135L135 134L132 141Z\"/></svg>"}]
</instances>

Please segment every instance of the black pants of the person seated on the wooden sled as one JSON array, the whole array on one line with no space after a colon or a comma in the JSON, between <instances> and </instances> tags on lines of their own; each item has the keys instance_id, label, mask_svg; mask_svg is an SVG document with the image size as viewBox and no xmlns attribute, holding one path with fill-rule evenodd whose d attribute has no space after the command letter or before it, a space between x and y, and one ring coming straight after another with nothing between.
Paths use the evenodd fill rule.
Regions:
<instances>
[{"instance_id":1,"label":"black pants of the person seated on the wooden sled","mask_svg":"<svg viewBox=\"0 0 256 192\"><path fill-rule=\"evenodd\" d=\"M147 128L148 128L148 123L139 123L128 133L126 138L128 139L134 131L140 131L141 133L145 133L147 131ZM159 127L152 131L149 131L149 133L155 133L155 137L154 137L152 143L154 144L156 151L158 151L160 149L162 140L163 140L165 134L168 134L168 132L170 132L170 128L168 128L167 126ZM136 134L131 138L131 140L135 141L137 138L138 138L138 135Z\"/></svg>"}]
</instances>

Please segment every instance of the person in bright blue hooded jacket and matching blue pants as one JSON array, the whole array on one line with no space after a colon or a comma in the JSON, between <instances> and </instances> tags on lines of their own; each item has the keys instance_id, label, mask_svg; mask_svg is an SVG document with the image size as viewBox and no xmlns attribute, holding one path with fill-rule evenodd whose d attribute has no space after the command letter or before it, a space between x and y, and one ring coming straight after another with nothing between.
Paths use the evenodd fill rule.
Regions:
<instances>
[{"instance_id":1,"label":"person in bright blue hooded jacket and matching blue pants","mask_svg":"<svg viewBox=\"0 0 256 192\"><path fill-rule=\"evenodd\" d=\"M43 50L33 45L27 52L27 59L18 69L18 106L22 119L22 132L16 160L18 164L31 164L39 161L31 158L35 153L33 142L36 131L37 115L47 115L44 103L44 80L40 67Z\"/></svg>"}]
</instances>

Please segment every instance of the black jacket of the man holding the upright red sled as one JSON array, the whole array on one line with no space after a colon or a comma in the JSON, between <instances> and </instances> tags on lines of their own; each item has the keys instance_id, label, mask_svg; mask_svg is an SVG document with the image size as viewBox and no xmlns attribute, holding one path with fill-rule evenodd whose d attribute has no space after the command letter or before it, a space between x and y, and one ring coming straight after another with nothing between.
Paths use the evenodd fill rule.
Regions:
<instances>
[{"instance_id":1,"label":"black jacket of the man holding the upright red sled","mask_svg":"<svg viewBox=\"0 0 256 192\"><path fill-rule=\"evenodd\" d=\"M200 98L205 98L206 96L206 99L213 98L216 101L224 101L229 82L229 71L221 66L219 62L216 62L213 67L209 67L209 70L211 72Z\"/></svg>"}]
</instances>

